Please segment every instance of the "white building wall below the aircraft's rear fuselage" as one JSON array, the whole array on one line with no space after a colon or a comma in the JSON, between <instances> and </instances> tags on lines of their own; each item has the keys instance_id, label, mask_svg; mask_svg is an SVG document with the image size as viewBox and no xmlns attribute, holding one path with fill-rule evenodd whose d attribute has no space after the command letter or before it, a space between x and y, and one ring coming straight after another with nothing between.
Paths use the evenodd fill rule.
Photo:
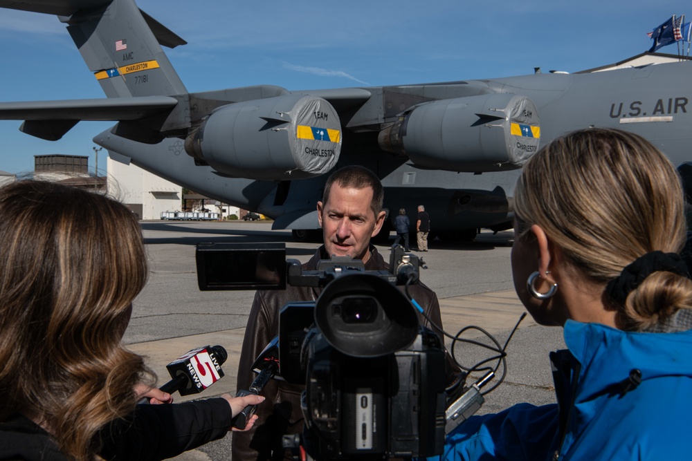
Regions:
<instances>
[{"instance_id":1,"label":"white building wall below the aircraft's rear fuselage","mask_svg":"<svg viewBox=\"0 0 692 461\"><path fill-rule=\"evenodd\" d=\"M108 194L132 209L140 219L161 219L161 211L180 211L183 188L136 167L107 160Z\"/></svg>"}]
</instances>

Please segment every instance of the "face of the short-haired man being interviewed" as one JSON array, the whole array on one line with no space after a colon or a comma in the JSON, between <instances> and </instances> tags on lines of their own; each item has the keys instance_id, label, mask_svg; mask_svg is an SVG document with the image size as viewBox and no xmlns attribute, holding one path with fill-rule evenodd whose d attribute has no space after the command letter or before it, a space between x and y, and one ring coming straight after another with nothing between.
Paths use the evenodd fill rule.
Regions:
<instances>
[{"instance_id":1,"label":"face of the short-haired man being interviewed","mask_svg":"<svg viewBox=\"0 0 692 461\"><path fill-rule=\"evenodd\" d=\"M375 216L370 208L372 189L331 186L327 203L317 203L317 214L327 253L352 259L370 258L370 238L384 223L385 212Z\"/></svg>"}]
</instances>

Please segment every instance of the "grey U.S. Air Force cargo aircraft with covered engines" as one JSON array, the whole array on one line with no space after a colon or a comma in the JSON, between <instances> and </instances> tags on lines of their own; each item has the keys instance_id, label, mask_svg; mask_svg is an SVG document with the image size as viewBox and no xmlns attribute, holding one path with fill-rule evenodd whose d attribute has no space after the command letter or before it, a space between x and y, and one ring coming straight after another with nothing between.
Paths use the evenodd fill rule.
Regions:
<instances>
[{"instance_id":1,"label":"grey U.S. Air Force cargo aircraft with covered engines","mask_svg":"<svg viewBox=\"0 0 692 461\"><path fill-rule=\"evenodd\" d=\"M511 227L518 171L540 144L588 126L644 135L690 160L691 62L608 72L534 73L459 82L289 91L271 85L188 93L161 46L185 41L134 0L0 0L57 15L107 98L0 103L0 120L58 140L80 120L113 160L316 232L327 173L362 164L385 207L426 205L441 238ZM392 214L392 219L397 213ZM385 232L384 234L387 234Z\"/></svg>"}]
</instances>

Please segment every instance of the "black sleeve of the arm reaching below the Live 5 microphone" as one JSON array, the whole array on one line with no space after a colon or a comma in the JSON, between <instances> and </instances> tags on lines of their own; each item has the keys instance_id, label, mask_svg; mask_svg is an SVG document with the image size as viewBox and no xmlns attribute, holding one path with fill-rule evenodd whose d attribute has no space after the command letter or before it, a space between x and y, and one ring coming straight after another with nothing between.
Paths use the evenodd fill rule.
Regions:
<instances>
[{"instance_id":1,"label":"black sleeve of the arm reaching below the Live 5 microphone","mask_svg":"<svg viewBox=\"0 0 692 461\"><path fill-rule=\"evenodd\" d=\"M233 417L226 399L170 405L138 405L124 420L100 432L109 461L164 460L223 438Z\"/></svg>"}]
</instances>

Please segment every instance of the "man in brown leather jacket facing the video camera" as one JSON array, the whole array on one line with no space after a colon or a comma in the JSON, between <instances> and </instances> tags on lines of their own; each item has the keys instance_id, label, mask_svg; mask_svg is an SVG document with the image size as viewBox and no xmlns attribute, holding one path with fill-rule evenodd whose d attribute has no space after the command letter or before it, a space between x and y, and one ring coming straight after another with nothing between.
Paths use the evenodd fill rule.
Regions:
<instances>
[{"instance_id":1,"label":"man in brown leather jacket facing the video camera","mask_svg":"<svg viewBox=\"0 0 692 461\"><path fill-rule=\"evenodd\" d=\"M325 245L302 266L316 270L320 259L331 255L361 259L365 270L388 267L370 238L376 236L385 219L382 211L383 188L372 171L358 166L339 169L329 176L322 201L317 204L318 220ZM257 355L279 331L279 310L289 301L316 301L320 288L289 286L282 291L257 291L245 330L238 365L238 389L247 389L255 377L251 367ZM426 310L428 317L441 326L435 292L422 283L411 285L412 297ZM421 325L430 324L421 314ZM443 341L444 344L444 341ZM450 379L448 378L448 382ZM266 397L257 406L259 419L251 431L233 434L233 460L281 460L289 457L281 446L282 435L301 433L303 416L300 394L304 386L272 379L262 391Z\"/></svg>"}]
</instances>

